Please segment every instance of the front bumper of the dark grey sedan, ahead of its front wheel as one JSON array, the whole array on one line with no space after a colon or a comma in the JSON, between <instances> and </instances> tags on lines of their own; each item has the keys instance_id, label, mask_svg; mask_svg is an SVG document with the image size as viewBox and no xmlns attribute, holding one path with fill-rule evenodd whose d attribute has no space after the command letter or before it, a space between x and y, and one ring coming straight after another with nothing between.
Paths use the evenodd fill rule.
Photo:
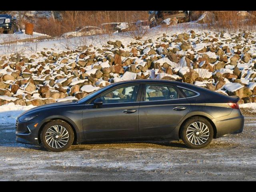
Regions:
<instances>
[{"instance_id":1,"label":"front bumper of the dark grey sedan, ahead of its front wheel","mask_svg":"<svg viewBox=\"0 0 256 192\"><path fill-rule=\"evenodd\" d=\"M39 144L38 142L38 130L34 124L36 121L20 122L16 121L16 142L24 144Z\"/></svg>"}]
</instances>

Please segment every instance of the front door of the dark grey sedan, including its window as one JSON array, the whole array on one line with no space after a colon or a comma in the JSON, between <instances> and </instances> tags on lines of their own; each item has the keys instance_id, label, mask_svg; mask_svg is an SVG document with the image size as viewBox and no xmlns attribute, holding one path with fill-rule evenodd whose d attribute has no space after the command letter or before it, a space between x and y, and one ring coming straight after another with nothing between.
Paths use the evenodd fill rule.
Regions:
<instances>
[{"instance_id":1,"label":"front door of the dark grey sedan, including its window","mask_svg":"<svg viewBox=\"0 0 256 192\"><path fill-rule=\"evenodd\" d=\"M138 137L140 85L122 85L97 96L102 105L85 105L82 115L84 136L88 139ZM94 99L94 100L95 100Z\"/></svg>"}]
</instances>

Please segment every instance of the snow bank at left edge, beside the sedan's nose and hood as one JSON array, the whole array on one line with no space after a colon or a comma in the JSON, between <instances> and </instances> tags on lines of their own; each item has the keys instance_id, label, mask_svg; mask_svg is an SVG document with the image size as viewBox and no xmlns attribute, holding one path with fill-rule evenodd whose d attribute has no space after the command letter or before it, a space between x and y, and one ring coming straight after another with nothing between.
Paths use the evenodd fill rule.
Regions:
<instances>
[{"instance_id":1,"label":"snow bank at left edge, beside the sedan's nose and hood","mask_svg":"<svg viewBox=\"0 0 256 192\"><path fill-rule=\"evenodd\" d=\"M0 106L0 125L15 125L16 118L24 111L34 108L36 106L21 106L14 103L8 103Z\"/></svg>"}]
</instances>

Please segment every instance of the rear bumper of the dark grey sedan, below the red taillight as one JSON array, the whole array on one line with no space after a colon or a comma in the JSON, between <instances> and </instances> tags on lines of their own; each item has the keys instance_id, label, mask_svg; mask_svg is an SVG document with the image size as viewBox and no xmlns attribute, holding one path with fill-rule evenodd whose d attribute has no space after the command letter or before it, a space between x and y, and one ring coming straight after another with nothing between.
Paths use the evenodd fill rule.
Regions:
<instances>
[{"instance_id":1,"label":"rear bumper of the dark grey sedan, below the red taillight","mask_svg":"<svg viewBox=\"0 0 256 192\"><path fill-rule=\"evenodd\" d=\"M217 130L215 138L241 133L244 128L244 116L242 116L239 110L233 110L224 119L222 117L213 121Z\"/></svg>"}]
</instances>

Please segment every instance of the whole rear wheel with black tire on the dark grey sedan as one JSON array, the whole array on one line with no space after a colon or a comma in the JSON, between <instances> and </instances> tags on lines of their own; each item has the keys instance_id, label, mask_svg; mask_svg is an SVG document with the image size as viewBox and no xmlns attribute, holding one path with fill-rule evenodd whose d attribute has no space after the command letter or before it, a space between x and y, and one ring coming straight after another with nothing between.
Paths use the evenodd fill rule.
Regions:
<instances>
[{"instance_id":1,"label":"whole rear wheel with black tire on the dark grey sedan","mask_svg":"<svg viewBox=\"0 0 256 192\"><path fill-rule=\"evenodd\" d=\"M198 125L198 127L199 127L199 125L200 125L199 122L201 123L202 126L204 124L204 128L202 128L201 131L193 130L192 128L195 128L194 123L196 123L196 125ZM190 126L190 128L189 128L189 126ZM208 130L206 129L206 126L207 126ZM202 117L189 118L183 124L181 129L182 129L181 130L181 138L182 138L183 142L186 144L186 146L188 146L189 148L192 148L192 149L200 149L200 148L206 147L212 141L212 138L214 135L212 125L210 124L210 122L208 120L206 120L205 118L202 118ZM206 129L206 130L203 131L204 129ZM207 134L207 131L209 131L209 134ZM193 137L193 135L194 135L194 137ZM208 135L208 138L207 138L207 135ZM200 142L201 142L201 144L200 144Z\"/></svg>"}]
</instances>

